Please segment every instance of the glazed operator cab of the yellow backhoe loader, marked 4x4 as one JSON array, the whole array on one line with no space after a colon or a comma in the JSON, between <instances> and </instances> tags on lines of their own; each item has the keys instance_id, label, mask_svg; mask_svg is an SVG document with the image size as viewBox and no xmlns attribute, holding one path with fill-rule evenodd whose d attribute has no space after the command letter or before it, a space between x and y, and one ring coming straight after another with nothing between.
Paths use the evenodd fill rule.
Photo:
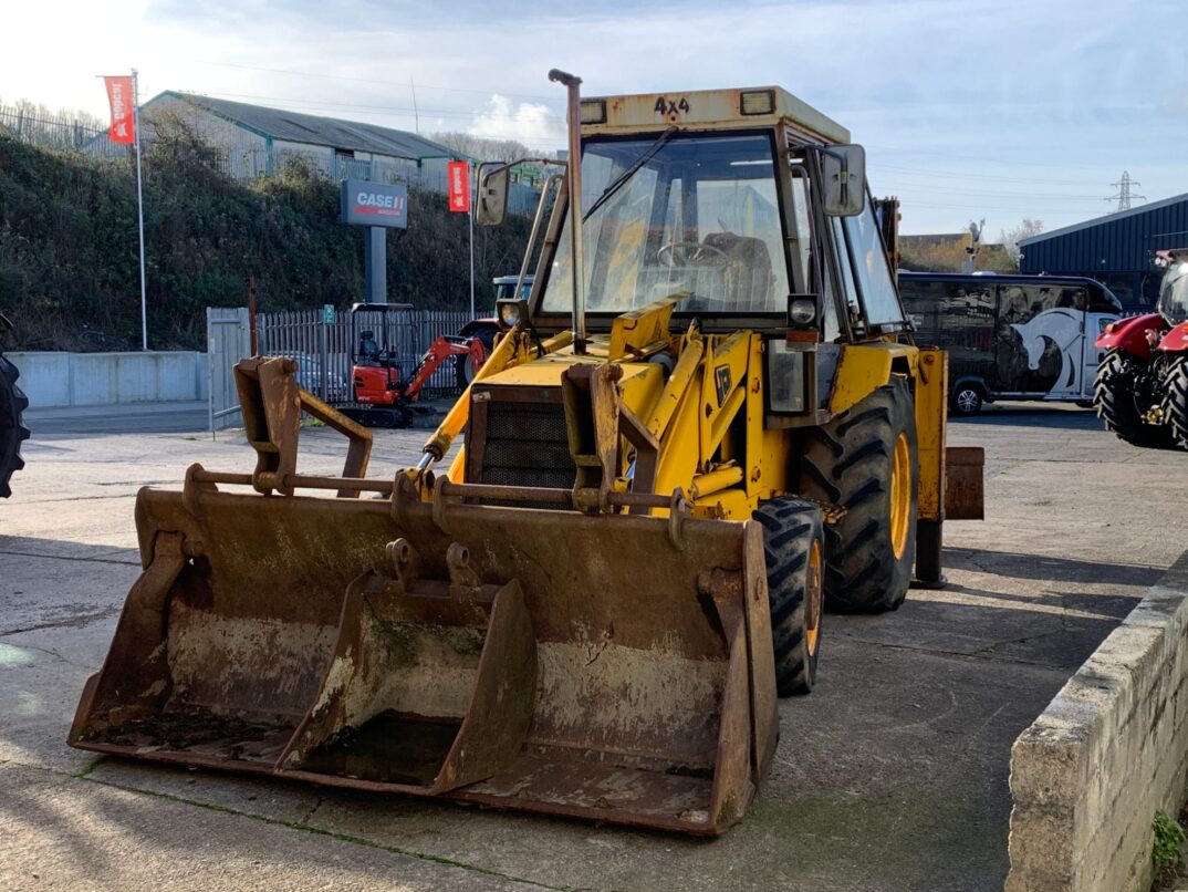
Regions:
<instances>
[{"instance_id":1,"label":"glazed operator cab of the yellow backhoe loader, marked 4x4","mask_svg":"<svg viewBox=\"0 0 1188 892\"><path fill-rule=\"evenodd\" d=\"M725 124L723 95L735 102ZM655 96L581 105L590 333L666 297L677 320L696 318L709 333L811 326L821 341L852 343L908 331L865 158L843 127L778 88L688 93L663 113ZM529 308L550 333L571 325L564 205Z\"/></svg>"}]
</instances>

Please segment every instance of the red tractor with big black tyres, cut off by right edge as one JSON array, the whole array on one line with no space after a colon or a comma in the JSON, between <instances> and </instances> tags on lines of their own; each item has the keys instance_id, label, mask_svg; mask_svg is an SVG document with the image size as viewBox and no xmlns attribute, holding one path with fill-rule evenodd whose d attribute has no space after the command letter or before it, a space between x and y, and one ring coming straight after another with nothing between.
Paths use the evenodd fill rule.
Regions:
<instances>
[{"instance_id":1,"label":"red tractor with big black tyres, cut off by right edge","mask_svg":"<svg viewBox=\"0 0 1188 892\"><path fill-rule=\"evenodd\" d=\"M1119 319L1097 340L1093 404L1107 431L1137 446L1188 448L1188 247L1167 266L1155 313Z\"/></svg>"}]
</instances>

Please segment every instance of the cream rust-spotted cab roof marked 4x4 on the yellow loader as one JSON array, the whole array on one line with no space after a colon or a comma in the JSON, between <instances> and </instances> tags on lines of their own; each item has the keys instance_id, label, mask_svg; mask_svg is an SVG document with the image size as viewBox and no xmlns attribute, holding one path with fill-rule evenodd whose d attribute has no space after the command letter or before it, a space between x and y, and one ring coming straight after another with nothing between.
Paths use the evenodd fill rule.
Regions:
<instances>
[{"instance_id":1,"label":"cream rust-spotted cab roof marked 4x4 on the yellow loader","mask_svg":"<svg viewBox=\"0 0 1188 892\"><path fill-rule=\"evenodd\" d=\"M773 127L784 121L827 145L849 143L849 131L781 87L640 93L582 99L582 136Z\"/></svg>"}]
</instances>

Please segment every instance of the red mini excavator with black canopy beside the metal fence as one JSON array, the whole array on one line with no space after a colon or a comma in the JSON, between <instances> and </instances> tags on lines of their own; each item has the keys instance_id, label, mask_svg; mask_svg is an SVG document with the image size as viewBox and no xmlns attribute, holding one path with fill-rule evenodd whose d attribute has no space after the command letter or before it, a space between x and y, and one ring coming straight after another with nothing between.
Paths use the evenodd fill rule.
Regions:
<instances>
[{"instance_id":1,"label":"red mini excavator with black canopy beside the metal fence","mask_svg":"<svg viewBox=\"0 0 1188 892\"><path fill-rule=\"evenodd\" d=\"M356 303L350 308L352 341L356 345L350 369L355 404L340 410L368 427L411 425L421 391L451 357L475 371L487 360L487 348L479 338L443 334L410 369L393 340L402 328L411 334L411 309L409 303Z\"/></svg>"}]
</instances>

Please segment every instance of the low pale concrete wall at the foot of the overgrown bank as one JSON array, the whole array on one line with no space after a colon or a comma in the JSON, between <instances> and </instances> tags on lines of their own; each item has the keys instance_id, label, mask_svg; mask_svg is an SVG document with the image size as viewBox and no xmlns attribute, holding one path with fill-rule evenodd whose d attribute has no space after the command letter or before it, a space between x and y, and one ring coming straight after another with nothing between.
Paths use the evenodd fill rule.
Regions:
<instances>
[{"instance_id":1,"label":"low pale concrete wall at the foot of the overgrown bank","mask_svg":"<svg viewBox=\"0 0 1188 892\"><path fill-rule=\"evenodd\" d=\"M207 398L207 354L6 353L30 408L115 406Z\"/></svg>"}]
</instances>

